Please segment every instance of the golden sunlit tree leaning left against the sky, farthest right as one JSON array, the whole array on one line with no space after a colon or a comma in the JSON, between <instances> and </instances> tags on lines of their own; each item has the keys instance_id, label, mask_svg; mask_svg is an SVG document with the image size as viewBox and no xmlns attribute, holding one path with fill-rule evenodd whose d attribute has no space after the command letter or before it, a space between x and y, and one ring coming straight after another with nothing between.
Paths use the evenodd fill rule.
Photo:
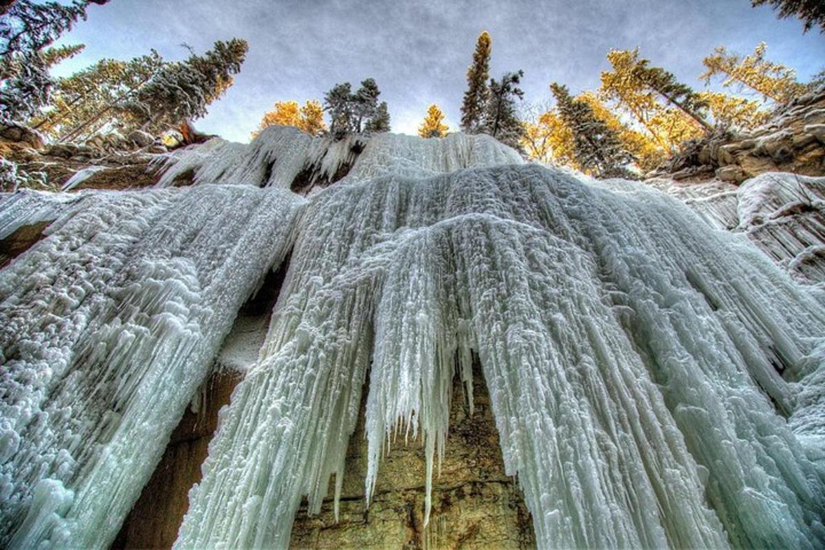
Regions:
<instances>
[{"instance_id":1,"label":"golden sunlit tree leaning left against the sky, farthest right","mask_svg":"<svg viewBox=\"0 0 825 550\"><path fill-rule=\"evenodd\" d=\"M787 103L804 94L807 87L797 82L794 69L765 59L766 50L767 45L761 42L753 54L740 58L719 46L702 60L707 70L699 78L709 83L714 76L724 75L724 87L748 87L776 103Z\"/></svg>"}]
</instances>

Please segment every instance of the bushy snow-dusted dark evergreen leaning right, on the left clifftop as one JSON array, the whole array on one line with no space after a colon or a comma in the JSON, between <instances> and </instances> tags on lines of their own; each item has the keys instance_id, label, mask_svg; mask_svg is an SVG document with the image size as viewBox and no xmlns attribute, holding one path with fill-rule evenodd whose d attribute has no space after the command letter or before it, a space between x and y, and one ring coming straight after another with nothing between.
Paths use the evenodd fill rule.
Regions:
<instances>
[{"instance_id":1,"label":"bushy snow-dusted dark evergreen leaning right, on the left clifftop","mask_svg":"<svg viewBox=\"0 0 825 550\"><path fill-rule=\"evenodd\" d=\"M202 56L193 54L186 61L167 63L122 109L132 124L154 134L177 128L181 120L199 118L229 85L231 75L240 72L247 48L246 40L233 38L215 42Z\"/></svg>"}]
</instances>

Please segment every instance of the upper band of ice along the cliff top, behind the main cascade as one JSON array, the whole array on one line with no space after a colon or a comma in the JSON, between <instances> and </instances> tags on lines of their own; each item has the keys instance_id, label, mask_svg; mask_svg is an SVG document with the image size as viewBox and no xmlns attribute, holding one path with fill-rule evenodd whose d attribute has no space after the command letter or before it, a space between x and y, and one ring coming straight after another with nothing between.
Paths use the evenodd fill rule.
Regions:
<instances>
[{"instance_id":1,"label":"upper band of ice along the cliff top, behind the main cascade","mask_svg":"<svg viewBox=\"0 0 825 550\"><path fill-rule=\"evenodd\" d=\"M390 171L421 176L471 166L524 162L518 153L487 135L451 134L445 139L422 140L389 133L351 134L333 141L328 136L313 138L291 126L270 126L249 144L211 139L162 159L165 172L158 186L171 186L176 178L194 172L196 184L230 183L287 189L330 183L347 172L353 178Z\"/></svg>"}]
</instances>

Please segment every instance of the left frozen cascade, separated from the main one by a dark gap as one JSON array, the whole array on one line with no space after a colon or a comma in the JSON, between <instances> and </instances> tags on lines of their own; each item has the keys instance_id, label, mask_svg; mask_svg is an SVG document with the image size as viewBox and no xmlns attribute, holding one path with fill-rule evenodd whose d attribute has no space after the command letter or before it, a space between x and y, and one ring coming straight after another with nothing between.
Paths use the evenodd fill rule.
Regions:
<instances>
[{"instance_id":1,"label":"left frozen cascade, separated from the main one by a dark gap","mask_svg":"<svg viewBox=\"0 0 825 550\"><path fill-rule=\"evenodd\" d=\"M43 218L54 196L0 212ZM242 186L70 196L0 271L4 548L111 543L303 201Z\"/></svg>"}]
</instances>

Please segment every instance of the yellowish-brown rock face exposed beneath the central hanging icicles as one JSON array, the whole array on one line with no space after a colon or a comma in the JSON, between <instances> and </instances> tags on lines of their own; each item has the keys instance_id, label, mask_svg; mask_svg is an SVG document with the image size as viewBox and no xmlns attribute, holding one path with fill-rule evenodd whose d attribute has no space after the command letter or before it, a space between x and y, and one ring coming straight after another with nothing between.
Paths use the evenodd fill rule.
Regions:
<instances>
[{"instance_id":1,"label":"yellowish-brown rock face exposed beneath the central hanging icicles","mask_svg":"<svg viewBox=\"0 0 825 550\"><path fill-rule=\"evenodd\" d=\"M461 384L453 386L450 436L441 476L433 482L432 512L424 525L424 449L404 444L403 434L381 463L375 496L366 507L367 468L362 403L356 432L347 449L338 522L332 499L320 515L301 505L290 548L535 548L530 513L516 480L504 473L498 432L481 371L474 369L474 414ZM330 489L332 491L332 487Z\"/></svg>"}]
</instances>

